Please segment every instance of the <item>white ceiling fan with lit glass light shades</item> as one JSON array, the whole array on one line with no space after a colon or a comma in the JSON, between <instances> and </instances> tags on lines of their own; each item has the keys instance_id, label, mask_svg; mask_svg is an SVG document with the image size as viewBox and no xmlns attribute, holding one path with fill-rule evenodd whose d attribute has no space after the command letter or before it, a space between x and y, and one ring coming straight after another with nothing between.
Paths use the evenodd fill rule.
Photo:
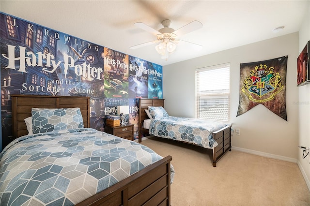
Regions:
<instances>
[{"instance_id":1,"label":"white ceiling fan with lit glass light shades","mask_svg":"<svg viewBox=\"0 0 310 206\"><path fill-rule=\"evenodd\" d=\"M139 27L140 29L144 29L154 34L156 36L156 40L138 44L135 46L131 46L130 49L137 49L142 46L160 42L160 44L157 44L155 46L155 49L158 52L158 54L161 55L162 59L168 59L169 54L175 51L176 44L179 41L183 41L183 40L178 39L178 37L185 35L189 32L192 32L194 30L202 28L202 23L199 21L192 21L189 24L186 24L185 26L177 30L170 28L171 21L169 19L162 21L161 24L163 25L164 28L161 28L157 31L153 29L152 27L147 26L144 23L141 23L141 22L135 23L134 25L136 27ZM183 41L183 42L186 42L186 41ZM187 42L187 43L190 43L190 42ZM190 44L194 44L194 43L190 43ZM195 44L195 45L202 47L202 45L199 45L199 44Z\"/></svg>"}]
</instances>

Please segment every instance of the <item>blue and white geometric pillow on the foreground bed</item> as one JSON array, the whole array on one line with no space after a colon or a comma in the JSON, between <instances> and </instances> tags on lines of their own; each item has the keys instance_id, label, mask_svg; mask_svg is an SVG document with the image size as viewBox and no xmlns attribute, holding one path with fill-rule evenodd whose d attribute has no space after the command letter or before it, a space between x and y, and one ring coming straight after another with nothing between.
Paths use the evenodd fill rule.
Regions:
<instances>
[{"instance_id":1,"label":"blue and white geometric pillow on the foreground bed","mask_svg":"<svg viewBox=\"0 0 310 206\"><path fill-rule=\"evenodd\" d=\"M52 132L67 129L83 128L83 117L80 108L32 108L33 133Z\"/></svg>"}]
</instances>

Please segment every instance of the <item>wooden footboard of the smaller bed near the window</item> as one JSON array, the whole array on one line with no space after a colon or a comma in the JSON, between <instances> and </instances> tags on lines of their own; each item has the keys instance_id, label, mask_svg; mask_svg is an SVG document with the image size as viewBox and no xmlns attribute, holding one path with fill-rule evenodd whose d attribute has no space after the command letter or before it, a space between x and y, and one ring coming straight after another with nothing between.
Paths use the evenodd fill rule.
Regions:
<instances>
[{"instance_id":1,"label":"wooden footboard of the smaller bed near the window","mask_svg":"<svg viewBox=\"0 0 310 206\"><path fill-rule=\"evenodd\" d=\"M213 138L217 141L217 147L213 148L213 166L217 166L217 161L227 152L232 150L231 127L224 127L213 132Z\"/></svg>"}]
</instances>

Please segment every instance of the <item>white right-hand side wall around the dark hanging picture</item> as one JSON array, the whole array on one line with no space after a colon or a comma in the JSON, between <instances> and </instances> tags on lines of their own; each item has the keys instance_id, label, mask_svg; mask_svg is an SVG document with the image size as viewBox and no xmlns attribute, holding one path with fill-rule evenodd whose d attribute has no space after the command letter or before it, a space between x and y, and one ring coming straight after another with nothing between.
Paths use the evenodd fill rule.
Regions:
<instances>
[{"instance_id":1,"label":"white right-hand side wall around the dark hanging picture","mask_svg":"<svg viewBox=\"0 0 310 206\"><path fill-rule=\"evenodd\" d=\"M310 3L308 14L299 30L299 52L310 41ZM299 146L310 147L310 84L298 87L299 91ZM298 151L298 165L305 177L306 183L310 190L310 155L305 159L302 158L302 149Z\"/></svg>"}]
</instances>

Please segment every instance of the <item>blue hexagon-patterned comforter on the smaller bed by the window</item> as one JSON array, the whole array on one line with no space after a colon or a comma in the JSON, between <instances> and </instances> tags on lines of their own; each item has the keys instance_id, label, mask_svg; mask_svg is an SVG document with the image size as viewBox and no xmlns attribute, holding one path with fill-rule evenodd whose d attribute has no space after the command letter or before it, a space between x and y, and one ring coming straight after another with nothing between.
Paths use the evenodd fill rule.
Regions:
<instances>
[{"instance_id":1,"label":"blue hexagon-patterned comforter on the smaller bed by the window","mask_svg":"<svg viewBox=\"0 0 310 206\"><path fill-rule=\"evenodd\" d=\"M181 142L189 142L205 148L217 147L217 142L212 137L215 132L229 124L208 119L169 117L152 119L149 133L174 139Z\"/></svg>"}]
</instances>

